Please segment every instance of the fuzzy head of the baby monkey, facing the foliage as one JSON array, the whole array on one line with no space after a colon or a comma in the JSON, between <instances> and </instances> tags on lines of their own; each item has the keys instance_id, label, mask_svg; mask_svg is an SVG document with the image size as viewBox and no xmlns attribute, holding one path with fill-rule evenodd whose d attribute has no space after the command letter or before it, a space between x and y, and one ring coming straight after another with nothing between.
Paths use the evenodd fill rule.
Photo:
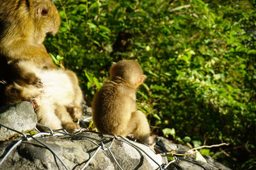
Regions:
<instances>
[{"instance_id":1,"label":"fuzzy head of the baby monkey, facing the foliage","mask_svg":"<svg viewBox=\"0 0 256 170\"><path fill-rule=\"evenodd\" d=\"M110 69L111 80L122 78L132 87L137 88L147 76L142 72L142 69L138 62L134 60L121 60L113 64Z\"/></svg>"}]
</instances>

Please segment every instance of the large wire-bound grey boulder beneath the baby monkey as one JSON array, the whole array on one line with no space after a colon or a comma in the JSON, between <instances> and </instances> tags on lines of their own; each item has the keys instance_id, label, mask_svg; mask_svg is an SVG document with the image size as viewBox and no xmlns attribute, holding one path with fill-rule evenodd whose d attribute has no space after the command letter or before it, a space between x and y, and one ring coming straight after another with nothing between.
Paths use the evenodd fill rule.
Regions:
<instances>
[{"instance_id":1,"label":"large wire-bound grey boulder beneath the baby monkey","mask_svg":"<svg viewBox=\"0 0 256 170\"><path fill-rule=\"evenodd\" d=\"M135 146L131 146L124 139L115 139L110 134L82 132L72 136L51 136L36 139L54 150L68 169L81 169L92 158L93 153L97 151L99 146L99 151L90 160L85 169L118 169L112 154L123 169L157 169L158 166L152 159L160 165L167 163L166 157L157 155L149 146L132 141L132 145ZM15 141L17 140L2 141L0 143L0 155L2 157ZM109 152L107 147L109 147L111 152ZM152 159L145 155L138 147L147 152ZM20 143L0 166L0 169L58 168L65 169L60 160L54 157L45 146L42 146L35 140Z\"/></svg>"}]
</instances>

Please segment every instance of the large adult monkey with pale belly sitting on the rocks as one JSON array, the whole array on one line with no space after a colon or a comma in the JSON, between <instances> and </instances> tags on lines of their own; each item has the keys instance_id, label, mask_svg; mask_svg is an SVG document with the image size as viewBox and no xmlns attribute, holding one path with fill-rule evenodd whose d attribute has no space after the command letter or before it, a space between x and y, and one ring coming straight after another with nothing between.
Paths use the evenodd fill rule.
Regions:
<instances>
[{"instance_id":1,"label":"large adult monkey with pale belly sitting on the rocks","mask_svg":"<svg viewBox=\"0 0 256 170\"><path fill-rule=\"evenodd\" d=\"M49 0L0 0L0 4L0 104L36 98L38 104L42 104L36 111L39 122L53 129L79 128L72 120L82 113L83 95L76 74L58 69L43 45L47 33L58 32L58 10ZM53 73L62 79L56 79ZM54 101L59 97L56 94L67 94L67 90L61 88L63 84L56 80L69 87L68 94L72 97L66 103ZM60 90L59 93L54 94L51 91L54 88ZM46 97L55 102L54 107L45 104ZM49 115L56 119L51 122Z\"/></svg>"}]
</instances>

